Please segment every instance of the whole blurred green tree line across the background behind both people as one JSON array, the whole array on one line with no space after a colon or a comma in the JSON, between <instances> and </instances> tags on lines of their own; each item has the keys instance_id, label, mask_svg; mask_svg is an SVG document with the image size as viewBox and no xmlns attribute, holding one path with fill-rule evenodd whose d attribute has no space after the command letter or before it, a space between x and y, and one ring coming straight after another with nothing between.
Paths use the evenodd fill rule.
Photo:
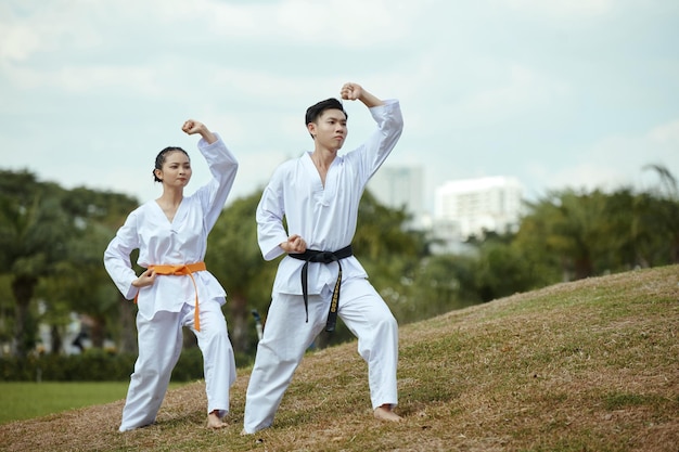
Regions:
<instances>
[{"instance_id":1,"label":"whole blurred green tree line across the background behind both people","mask_svg":"<svg viewBox=\"0 0 679 452\"><path fill-rule=\"evenodd\" d=\"M433 254L436 238L407 230L405 209L386 207L366 192L354 249L401 324L561 281L677 263L677 181L664 167L650 168L658 175L653 190L550 192L525 204L517 229L470 237L469 251L459 254ZM278 266L264 261L257 245L260 194L225 208L205 258L227 289L225 314L241 356L255 352L253 311L266 327ZM138 204L119 193L66 190L27 170L0 170L0 357L35 351L39 324L50 331L44 352L62 353L73 313L88 319L93 348L110 339L113 352L136 353L136 307L121 298L102 259ZM321 334L316 346L351 337L340 325L332 335Z\"/></svg>"}]
</instances>

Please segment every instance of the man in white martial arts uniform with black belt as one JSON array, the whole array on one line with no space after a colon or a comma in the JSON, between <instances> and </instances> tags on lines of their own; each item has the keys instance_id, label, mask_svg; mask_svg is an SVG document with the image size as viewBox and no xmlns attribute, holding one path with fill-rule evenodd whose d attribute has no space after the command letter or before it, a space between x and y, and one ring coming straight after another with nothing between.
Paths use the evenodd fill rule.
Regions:
<instances>
[{"instance_id":1,"label":"man in white martial arts uniform with black belt","mask_svg":"<svg viewBox=\"0 0 679 452\"><path fill-rule=\"evenodd\" d=\"M377 130L358 148L338 156L347 137L342 102L328 99L310 106L305 124L313 139L313 152L281 165L257 207L264 258L287 256L273 283L247 388L243 434L273 423L305 350L324 326L334 330L337 315L358 337L358 351L368 362L375 417L400 421L393 412L398 325L368 282L350 244L366 184L396 145L403 122L398 101L382 101L357 83L345 83L341 96L361 101Z\"/></svg>"}]
</instances>

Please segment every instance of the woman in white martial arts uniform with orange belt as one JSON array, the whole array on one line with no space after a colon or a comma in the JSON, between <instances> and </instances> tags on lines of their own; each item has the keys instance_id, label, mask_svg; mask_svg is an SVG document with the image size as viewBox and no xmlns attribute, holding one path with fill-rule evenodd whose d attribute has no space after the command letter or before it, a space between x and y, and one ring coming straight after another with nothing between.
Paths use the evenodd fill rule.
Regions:
<instances>
[{"instance_id":1,"label":"woman in white martial arts uniform with orange belt","mask_svg":"<svg viewBox=\"0 0 679 452\"><path fill-rule=\"evenodd\" d=\"M191 160L180 147L166 147L153 177L163 194L133 210L104 253L104 266L127 299L134 299L139 357L130 377L120 431L150 425L161 408L182 348L182 327L193 331L203 352L207 426L225 427L229 388L235 380L233 349L221 312L226 292L205 268L207 234L233 185L238 162L220 137L202 122L182 130L200 134L198 150L213 179L184 196ZM139 276L130 253L139 249Z\"/></svg>"}]
</instances>

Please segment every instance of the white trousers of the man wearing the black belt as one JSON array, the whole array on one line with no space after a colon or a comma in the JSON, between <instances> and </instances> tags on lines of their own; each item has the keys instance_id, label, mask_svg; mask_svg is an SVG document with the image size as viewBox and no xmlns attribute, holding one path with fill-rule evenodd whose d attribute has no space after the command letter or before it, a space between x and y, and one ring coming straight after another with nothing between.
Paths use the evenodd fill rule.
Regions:
<instances>
[{"instance_id":1,"label":"white trousers of the man wearing the black belt","mask_svg":"<svg viewBox=\"0 0 679 452\"><path fill-rule=\"evenodd\" d=\"M398 324L382 297L364 279L342 283L337 315L358 337L358 352L368 363L372 408L397 403ZM306 323L302 295L274 294L257 346L247 386L244 429L269 427L307 348L325 327L332 293L309 295Z\"/></svg>"}]
</instances>

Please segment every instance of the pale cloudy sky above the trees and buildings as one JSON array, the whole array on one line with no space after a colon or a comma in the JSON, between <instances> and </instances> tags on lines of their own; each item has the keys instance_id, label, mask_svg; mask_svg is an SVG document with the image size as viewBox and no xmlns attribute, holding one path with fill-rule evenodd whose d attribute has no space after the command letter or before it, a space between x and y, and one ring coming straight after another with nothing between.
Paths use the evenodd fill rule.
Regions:
<instances>
[{"instance_id":1,"label":"pale cloudy sky above the trees and buildings","mask_svg":"<svg viewBox=\"0 0 679 452\"><path fill-rule=\"evenodd\" d=\"M679 177L676 0L0 0L0 169L157 197L165 146L209 178L188 118L240 162L230 199L312 150L306 108L346 81L398 99L387 166L553 190ZM373 130L345 102L342 152Z\"/></svg>"}]
</instances>

